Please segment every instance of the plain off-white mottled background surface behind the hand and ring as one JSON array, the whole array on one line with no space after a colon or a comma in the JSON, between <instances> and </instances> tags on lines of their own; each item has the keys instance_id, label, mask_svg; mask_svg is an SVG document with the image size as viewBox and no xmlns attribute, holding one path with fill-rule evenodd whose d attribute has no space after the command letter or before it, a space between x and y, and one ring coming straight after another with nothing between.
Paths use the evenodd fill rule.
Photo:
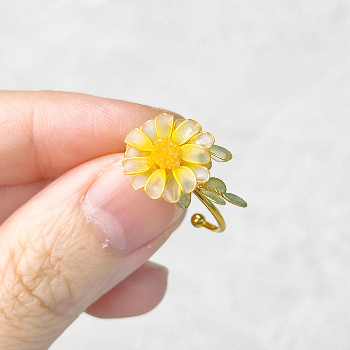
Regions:
<instances>
[{"instance_id":1,"label":"plain off-white mottled background surface behind the hand and ring","mask_svg":"<svg viewBox=\"0 0 350 350\"><path fill-rule=\"evenodd\" d=\"M150 313L82 315L52 350L350 349L348 0L0 0L0 89L164 107L231 149L248 208L190 214Z\"/></svg>"}]
</instances>

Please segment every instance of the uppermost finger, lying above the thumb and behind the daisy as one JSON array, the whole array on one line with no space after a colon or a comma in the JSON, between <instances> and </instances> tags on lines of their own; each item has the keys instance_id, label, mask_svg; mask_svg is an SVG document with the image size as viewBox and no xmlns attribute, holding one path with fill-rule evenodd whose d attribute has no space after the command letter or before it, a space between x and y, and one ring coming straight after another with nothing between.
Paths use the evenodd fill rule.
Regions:
<instances>
[{"instance_id":1,"label":"uppermost finger, lying above the thumb and behind the daisy","mask_svg":"<svg viewBox=\"0 0 350 350\"><path fill-rule=\"evenodd\" d=\"M162 110L77 93L0 92L0 186L56 179L102 155Z\"/></svg>"}]
</instances>

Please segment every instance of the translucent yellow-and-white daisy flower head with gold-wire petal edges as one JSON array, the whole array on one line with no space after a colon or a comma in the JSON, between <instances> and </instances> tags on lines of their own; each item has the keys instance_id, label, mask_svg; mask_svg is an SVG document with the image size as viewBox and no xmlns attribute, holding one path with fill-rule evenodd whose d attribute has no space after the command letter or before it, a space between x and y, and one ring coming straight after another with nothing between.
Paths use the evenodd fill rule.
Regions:
<instances>
[{"instance_id":1,"label":"translucent yellow-and-white daisy flower head with gold-wire petal edges","mask_svg":"<svg viewBox=\"0 0 350 350\"><path fill-rule=\"evenodd\" d=\"M210 179L214 137L194 120L174 120L162 113L132 130L124 141L123 172L133 175L133 188L145 188L150 198L177 203L182 194ZM221 160L220 154L215 160Z\"/></svg>"}]
</instances>

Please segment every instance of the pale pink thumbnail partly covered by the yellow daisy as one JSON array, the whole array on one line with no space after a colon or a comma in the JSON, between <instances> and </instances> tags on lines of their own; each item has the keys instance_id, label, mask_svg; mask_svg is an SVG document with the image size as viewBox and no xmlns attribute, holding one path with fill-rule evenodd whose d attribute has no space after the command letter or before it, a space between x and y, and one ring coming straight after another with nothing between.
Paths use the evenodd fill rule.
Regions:
<instances>
[{"instance_id":1,"label":"pale pink thumbnail partly covered by the yellow daisy","mask_svg":"<svg viewBox=\"0 0 350 350\"><path fill-rule=\"evenodd\" d=\"M84 197L87 216L102 228L106 239L124 251L135 250L158 237L182 214L176 205L162 198L153 200L143 189L135 191L130 180L118 161Z\"/></svg>"}]
</instances>

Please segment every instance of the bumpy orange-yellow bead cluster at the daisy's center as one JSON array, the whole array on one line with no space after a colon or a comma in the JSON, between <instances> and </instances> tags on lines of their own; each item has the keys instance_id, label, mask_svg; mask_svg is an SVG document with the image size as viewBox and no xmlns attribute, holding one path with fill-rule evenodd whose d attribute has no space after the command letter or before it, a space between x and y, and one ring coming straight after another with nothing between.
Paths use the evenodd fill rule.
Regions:
<instances>
[{"instance_id":1,"label":"bumpy orange-yellow bead cluster at the daisy's center","mask_svg":"<svg viewBox=\"0 0 350 350\"><path fill-rule=\"evenodd\" d=\"M180 145L170 139L156 139L153 144L153 151L147 156L147 165L151 166L156 163L160 169L171 170L180 166L180 161Z\"/></svg>"}]
</instances>

